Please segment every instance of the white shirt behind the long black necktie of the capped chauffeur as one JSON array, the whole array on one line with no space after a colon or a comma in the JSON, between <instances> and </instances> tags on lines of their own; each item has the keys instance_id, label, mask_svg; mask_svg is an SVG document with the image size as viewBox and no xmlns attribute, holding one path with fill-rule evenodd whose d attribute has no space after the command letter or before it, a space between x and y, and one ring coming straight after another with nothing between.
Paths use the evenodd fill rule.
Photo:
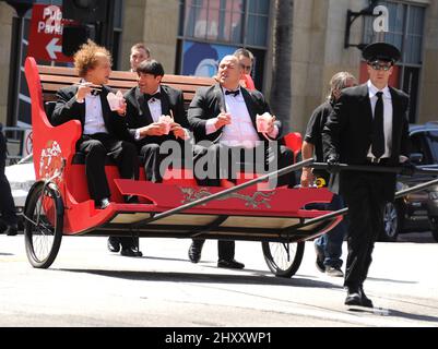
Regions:
<instances>
[{"instance_id":1,"label":"white shirt behind the long black necktie of the capped chauffeur","mask_svg":"<svg viewBox=\"0 0 438 349\"><path fill-rule=\"evenodd\" d=\"M372 85L371 81L368 80L367 82L368 86L368 96L369 100L371 101L371 110L372 110L372 118L375 116L375 109L376 109L376 104L377 104L377 96L376 94L378 92L382 92L382 98L383 98L383 133L384 133L384 153L381 156L381 158L388 158L391 157L391 151L392 151L392 98L391 98L391 93L386 86L382 89L377 88L375 85ZM371 146L368 149L368 157L374 158L374 154L371 152Z\"/></svg>"}]
</instances>

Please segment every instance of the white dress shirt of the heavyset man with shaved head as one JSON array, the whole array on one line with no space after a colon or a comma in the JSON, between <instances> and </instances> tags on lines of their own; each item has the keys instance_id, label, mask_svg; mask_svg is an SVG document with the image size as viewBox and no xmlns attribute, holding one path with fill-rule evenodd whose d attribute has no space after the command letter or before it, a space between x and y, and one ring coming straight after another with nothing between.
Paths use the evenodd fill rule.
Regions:
<instances>
[{"instance_id":1,"label":"white dress shirt of the heavyset man with shaved head","mask_svg":"<svg viewBox=\"0 0 438 349\"><path fill-rule=\"evenodd\" d=\"M246 148L253 148L260 142L259 134L252 124L251 117L248 111L248 107L245 103L245 98L240 93L237 96L225 95L225 88L222 88L224 93L225 107L228 113L232 116L232 123L226 124L222 131L220 143L228 146L242 146ZM215 123L217 118L206 120L205 133L211 134L217 131ZM269 136L275 139L279 134L279 129L275 125L274 131Z\"/></svg>"}]
</instances>

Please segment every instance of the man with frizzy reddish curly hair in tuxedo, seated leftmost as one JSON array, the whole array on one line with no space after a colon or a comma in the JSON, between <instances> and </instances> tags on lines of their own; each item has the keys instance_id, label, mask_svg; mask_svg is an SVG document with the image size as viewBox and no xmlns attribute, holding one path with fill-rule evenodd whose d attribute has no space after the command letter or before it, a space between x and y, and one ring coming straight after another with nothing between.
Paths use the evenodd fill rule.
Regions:
<instances>
[{"instance_id":1,"label":"man with frizzy reddish curly hair in tuxedo, seated leftmost","mask_svg":"<svg viewBox=\"0 0 438 349\"><path fill-rule=\"evenodd\" d=\"M90 196L104 209L109 205L110 196L105 158L109 156L117 164L121 178L138 179L137 149L125 123L123 108L111 111L107 100L110 88L105 84L111 73L109 51L88 40L74 55L74 65L82 81L57 93L51 123L81 121L82 136L76 143L76 152L85 154ZM126 201L135 203L137 197L128 196ZM122 254L134 256L138 251L123 246Z\"/></svg>"}]
</instances>

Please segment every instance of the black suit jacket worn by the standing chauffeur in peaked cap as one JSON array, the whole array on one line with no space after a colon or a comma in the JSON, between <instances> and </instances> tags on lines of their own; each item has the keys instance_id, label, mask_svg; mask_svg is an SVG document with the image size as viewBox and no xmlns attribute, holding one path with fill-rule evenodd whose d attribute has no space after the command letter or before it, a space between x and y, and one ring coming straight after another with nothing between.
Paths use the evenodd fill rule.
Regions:
<instances>
[{"instance_id":1,"label":"black suit jacket worn by the standing chauffeur in peaked cap","mask_svg":"<svg viewBox=\"0 0 438 349\"><path fill-rule=\"evenodd\" d=\"M399 89L389 87L392 101L392 144L391 157L386 166L398 166L400 155L409 157L409 96ZM339 155L340 163L348 165L367 165L367 155L371 146L372 107L368 86L363 84L345 88L322 131L324 158L331 154ZM352 189L355 176L353 171L340 174L340 191ZM386 181L387 200L391 201L395 191L395 174L382 174Z\"/></svg>"}]
</instances>

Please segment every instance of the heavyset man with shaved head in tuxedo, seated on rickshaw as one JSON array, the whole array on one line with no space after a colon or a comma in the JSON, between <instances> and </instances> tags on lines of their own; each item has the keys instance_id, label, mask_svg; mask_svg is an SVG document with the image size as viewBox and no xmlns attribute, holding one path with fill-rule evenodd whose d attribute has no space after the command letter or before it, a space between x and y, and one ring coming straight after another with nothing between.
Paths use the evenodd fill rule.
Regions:
<instances>
[{"instance_id":1,"label":"heavyset man with shaved head in tuxedo, seated on rickshaw","mask_svg":"<svg viewBox=\"0 0 438 349\"><path fill-rule=\"evenodd\" d=\"M230 170L232 165L251 157L252 164L249 165L261 165L263 171L267 167L277 169L293 163L292 151L275 142L281 135L282 125L270 115L263 95L240 87L244 73L237 57L224 57L216 75L218 83L200 88L190 104L188 120L197 142L194 176L202 185L220 185L221 178L233 180L235 173ZM256 117L264 113L268 118L267 128L264 132L258 132ZM214 165L213 173L205 173L200 166L205 158ZM294 178L292 174L282 176L279 185L293 186ZM203 242L193 240L189 250L191 262L199 262ZM244 264L234 260L234 241L218 241L217 266L242 268Z\"/></svg>"}]
</instances>

